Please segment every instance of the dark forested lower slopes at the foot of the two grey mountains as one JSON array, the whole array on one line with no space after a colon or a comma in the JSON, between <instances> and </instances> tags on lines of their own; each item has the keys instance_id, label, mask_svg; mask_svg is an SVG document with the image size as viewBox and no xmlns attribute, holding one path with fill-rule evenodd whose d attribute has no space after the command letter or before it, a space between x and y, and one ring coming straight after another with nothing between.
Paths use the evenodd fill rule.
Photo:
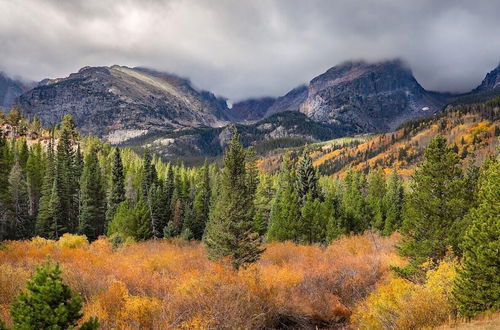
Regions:
<instances>
[{"instance_id":1,"label":"dark forested lower slopes at the foot of the two grey mountains","mask_svg":"<svg viewBox=\"0 0 500 330\"><path fill-rule=\"evenodd\" d=\"M205 127L175 132L151 131L123 145L147 145L165 159L215 157L224 151L233 127L238 129L242 143L254 146L259 153L347 134L347 131L315 122L299 112L282 112L249 125L231 124L223 128Z\"/></svg>"}]
</instances>

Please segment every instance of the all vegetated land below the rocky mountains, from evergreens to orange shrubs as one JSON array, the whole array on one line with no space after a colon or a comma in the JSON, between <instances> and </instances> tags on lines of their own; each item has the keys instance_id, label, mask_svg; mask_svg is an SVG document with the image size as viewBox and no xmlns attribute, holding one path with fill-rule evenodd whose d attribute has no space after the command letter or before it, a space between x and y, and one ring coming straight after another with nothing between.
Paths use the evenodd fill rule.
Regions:
<instances>
[{"instance_id":1,"label":"all vegetated land below the rocky mountains, from evergreens to orange shrubs","mask_svg":"<svg viewBox=\"0 0 500 330\"><path fill-rule=\"evenodd\" d=\"M266 172L237 130L221 166L186 167L82 136L71 116L47 130L12 111L1 118L0 317L15 328L417 329L498 310L498 113L497 100L452 108L393 135L282 152ZM35 271L47 256L61 270ZM37 296L61 283L54 301ZM31 307L58 299L72 303L57 320Z\"/></svg>"}]
</instances>

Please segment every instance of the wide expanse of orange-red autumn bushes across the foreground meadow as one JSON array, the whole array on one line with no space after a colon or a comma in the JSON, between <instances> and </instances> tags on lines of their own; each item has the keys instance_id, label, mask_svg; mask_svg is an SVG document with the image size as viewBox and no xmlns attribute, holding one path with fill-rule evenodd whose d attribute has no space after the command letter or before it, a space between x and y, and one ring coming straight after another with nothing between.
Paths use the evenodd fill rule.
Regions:
<instances>
[{"instance_id":1,"label":"wide expanse of orange-red autumn bushes across the foreground meadow","mask_svg":"<svg viewBox=\"0 0 500 330\"><path fill-rule=\"evenodd\" d=\"M5 244L3 317L47 256L61 263L65 281L82 294L85 318L98 316L103 329L333 326L388 277L389 265L402 262L393 248L396 235L372 233L328 247L271 243L261 260L238 273L208 261L197 242L148 241L113 250L105 237L91 244L69 238L79 243L36 238Z\"/></svg>"}]
</instances>

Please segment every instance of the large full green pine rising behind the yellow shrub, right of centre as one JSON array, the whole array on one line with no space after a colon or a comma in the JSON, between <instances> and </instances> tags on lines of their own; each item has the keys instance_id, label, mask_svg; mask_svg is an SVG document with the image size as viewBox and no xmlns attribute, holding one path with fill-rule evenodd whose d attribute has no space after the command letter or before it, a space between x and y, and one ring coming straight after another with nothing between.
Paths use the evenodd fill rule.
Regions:
<instances>
[{"instance_id":1,"label":"large full green pine rising behind the yellow shrub, right of centre","mask_svg":"<svg viewBox=\"0 0 500 330\"><path fill-rule=\"evenodd\" d=\"M430 259L441 260L451 246L458 251L457 238L466 212L462 173L457 154L436 136L425 150L425 160L413 175L403 226L401 255L410 264L400 274L418 275L418 266Z\"/></svg>"}]
</instances>

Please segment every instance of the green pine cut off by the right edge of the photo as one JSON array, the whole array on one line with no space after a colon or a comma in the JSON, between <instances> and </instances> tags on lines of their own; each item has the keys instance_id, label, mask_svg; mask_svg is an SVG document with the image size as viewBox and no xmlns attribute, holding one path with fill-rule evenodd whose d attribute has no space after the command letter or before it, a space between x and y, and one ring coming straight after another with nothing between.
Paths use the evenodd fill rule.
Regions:
<instances>
[{"instance_id":1,"label":"green pine cut off by the right edge of the photo","mask_svg":"<svg viewBox=\"0 0 500 330\"><path fill-rule=\"evenodd\" d=\"M479 179L478 206L462 243L463 259L453 295L460 313L471 318L500 309L500 162L485 164Z\"/></svg>"}]
</instances>

